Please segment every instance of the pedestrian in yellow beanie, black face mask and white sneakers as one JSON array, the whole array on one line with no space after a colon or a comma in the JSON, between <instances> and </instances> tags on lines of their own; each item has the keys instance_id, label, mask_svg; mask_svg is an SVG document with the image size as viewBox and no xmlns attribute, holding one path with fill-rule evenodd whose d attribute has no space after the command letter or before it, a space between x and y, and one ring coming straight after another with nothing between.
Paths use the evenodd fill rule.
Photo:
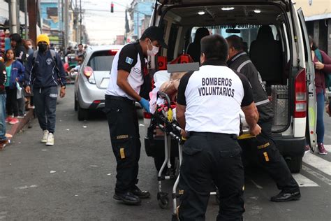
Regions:
<instances>
[{"instance_id":1,"label":"pedestrian in yellow beanie, black face mask and white sneakers","mask_svg":"<svg viewBox=\"0 0 331 221\"><path fill-rule=\"evenodd\" d=\"M66 95L66 73L61 58L49 50L50 39L41 34L37 37L38 52L29 56L25 69L25 92L34 90L34 106L38 122L43 129L42 143L54 145L57 87L61 85L60 97ZM36 55L36 56L35 56Z\"/></svg>"}]
</instances>

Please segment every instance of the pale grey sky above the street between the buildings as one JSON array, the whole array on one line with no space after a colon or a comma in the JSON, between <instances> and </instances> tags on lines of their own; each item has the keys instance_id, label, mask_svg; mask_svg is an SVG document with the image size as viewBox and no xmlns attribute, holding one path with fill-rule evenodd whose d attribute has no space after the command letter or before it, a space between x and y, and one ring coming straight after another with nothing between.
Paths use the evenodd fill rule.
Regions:
<instances>
[{"instance_id":1,"label":"pale grey sky above the street between the buildings","mask_svg":"<svg viewBox=\"0 0 331 221\"><path fill-rule=\"evenodd\" d=\"M110 3L114 3L114 13L110 13ZM82 0L83 24L91 44L110 44L117 35L124 34L125 7L132 0ZM123 6L122 6L123 5Z\"/></svg>"}]
</instances>

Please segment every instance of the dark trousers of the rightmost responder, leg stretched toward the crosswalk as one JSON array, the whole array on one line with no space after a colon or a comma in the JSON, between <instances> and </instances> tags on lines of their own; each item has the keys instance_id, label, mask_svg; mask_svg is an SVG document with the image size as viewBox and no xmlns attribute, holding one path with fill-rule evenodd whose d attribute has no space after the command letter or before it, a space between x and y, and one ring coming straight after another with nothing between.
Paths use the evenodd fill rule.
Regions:
<instances>
[{"instance_id":1,"label":"dark trousers of the rightmost responder, leg stretched toward the crosswalk","mask_svg":"<svg viewBox=\"0 0 331 221\"><path fill-rule=\"evenodd\" d=\"M249 145L249 147L253 148L253 151L257 152L258 164L267 171L279 190L286 192L299 190L299 185L297 185L290 173L284 157L281 156L272 140L272 122L258 122L258 124L262 129L262 133L256 136L256 138L247 139L247 141L244 141L244 145Z\"/></svg>"}]
</instances>

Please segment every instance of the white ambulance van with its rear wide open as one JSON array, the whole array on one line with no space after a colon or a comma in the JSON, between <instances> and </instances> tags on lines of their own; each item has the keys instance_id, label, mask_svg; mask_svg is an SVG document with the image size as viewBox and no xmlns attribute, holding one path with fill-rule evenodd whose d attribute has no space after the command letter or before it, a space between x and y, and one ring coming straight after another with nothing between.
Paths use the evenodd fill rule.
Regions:
<instances>
[{"instance_id":1,"label":"white ambulance van with its rear wide open","mask_svg":"<svg viewBox=\"0 0 331 221\"><path fill-rule=\"evenodd\" d=\"M159 57L168 61L186 51L199 27L224 37L231 34L242 37L272 99L274 141L290 171L299 172L306 138L316 148L314 65L302 10L296 10L290 0L157 1L150 25L163 29L168 49L160 50ZM260 30L265 28L261 27L271 32L263 33ZM157 64L152 62L152 66ZM146 127L149 117L145 114ZM163 136L157 136L150 127L145 150L154 157L156 167L163 162Z\"/></svg>"}]
</instances>

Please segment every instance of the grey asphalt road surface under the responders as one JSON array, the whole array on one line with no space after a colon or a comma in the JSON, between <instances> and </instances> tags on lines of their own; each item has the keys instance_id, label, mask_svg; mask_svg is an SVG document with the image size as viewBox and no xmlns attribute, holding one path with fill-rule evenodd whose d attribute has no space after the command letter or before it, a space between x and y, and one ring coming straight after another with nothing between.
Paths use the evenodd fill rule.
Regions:
<instances>
[{"instance_id":1,"label":"grey asphalt road surface under the responders","mask_svg":"<svg viewBox=\"0 0 331 221\"><path fill-rule=\"evenodd\" d=\"M119 204L112 199L116 164L105 117L96 113L78 122L73 86L57 108L54 147L39 143L41 130L34 120L31 129L0 152L0 220L170 220L171 207L163 210L157 204L156 170L143 148L139 185L152 198L141 206ZM331 152L331 118L325 122ZM142 126L140 134L145 134ZM279 192L272 180L260 169L247 171L245 220L331 220L330 162L331 154L306 155L301 173L295 174L302 199L288 203L270 202ZM170 192L171 185L165 182L165 191ZM217 211L211 197L207 220L215 220Z\"/></svg>"}]
</instances>

